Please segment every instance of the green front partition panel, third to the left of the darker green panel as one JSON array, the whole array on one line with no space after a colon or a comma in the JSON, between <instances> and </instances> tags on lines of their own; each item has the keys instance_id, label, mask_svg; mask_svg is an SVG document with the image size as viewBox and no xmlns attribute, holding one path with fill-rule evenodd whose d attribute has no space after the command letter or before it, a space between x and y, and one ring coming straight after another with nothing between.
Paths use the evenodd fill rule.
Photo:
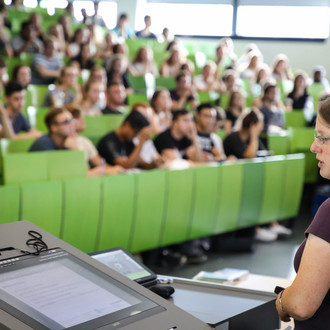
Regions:
<instances>
[{"instance_id":1,"label":"green front partition panel, third to the left of the darker green panel","mask_svg":"<svg viewBox=\"0 0 330 330\"><path fill-rule=\"evenodd\" d=\"M161 245L166 246L186 241L190 231L193 203L193 169L168 171L165 203L165 222Z\"/></svg>"}]
</instances>

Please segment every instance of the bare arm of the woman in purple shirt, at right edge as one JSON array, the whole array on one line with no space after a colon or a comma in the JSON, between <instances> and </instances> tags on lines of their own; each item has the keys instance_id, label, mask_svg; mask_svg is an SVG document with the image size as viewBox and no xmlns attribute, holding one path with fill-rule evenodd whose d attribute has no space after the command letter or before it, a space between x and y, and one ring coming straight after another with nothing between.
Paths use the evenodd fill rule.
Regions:
<instances>
[{"instance_id":1,"label":"bare arm of the woman in purple shirt, at right edge","mask_svg":"<svg viewBox=\"0 0 330 330\"><path fill-rule=\"evenodd\" d=\"M312 234L308 235L301 263L292 285L276 300L282 321L311 318L322 304L330 288L330 244ZM283 310L282 310L283 307Z\"/></svg>"}]
</instances>

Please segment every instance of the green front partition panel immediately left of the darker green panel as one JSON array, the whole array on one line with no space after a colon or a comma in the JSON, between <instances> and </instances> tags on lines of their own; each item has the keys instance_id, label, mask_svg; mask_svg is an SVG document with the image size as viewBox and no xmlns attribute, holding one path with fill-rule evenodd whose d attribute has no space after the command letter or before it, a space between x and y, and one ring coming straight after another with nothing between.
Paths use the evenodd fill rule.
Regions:
<instances>
[{"instance_id":1,"label":"green front partition panel immediately left of the darker green panel","mask_svg":"<svg viewBox=\"0 0 330 330\"><path fill-rule=\"evenodd\" d=\"M242 201L243 163L223 163L219 166L219 203L214 233L237 228Z\"/></svg>"}]
</instances>

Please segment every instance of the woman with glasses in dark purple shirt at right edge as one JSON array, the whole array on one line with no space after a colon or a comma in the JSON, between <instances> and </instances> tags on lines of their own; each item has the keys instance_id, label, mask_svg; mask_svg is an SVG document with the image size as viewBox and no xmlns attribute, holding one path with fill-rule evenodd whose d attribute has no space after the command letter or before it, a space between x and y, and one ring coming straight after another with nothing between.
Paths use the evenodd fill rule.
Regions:
<instances>
[{"instance_id":1,"label":"woman with glasses in dark purple shirt at right edge","mask_svg":"<svg viewBox=\"0 0 330 330\"><path fill-rule=\"evenodd\" d=\"M320 175L330 179L330 97L320 105L311 151ZM319 207L297 250L293 283L276 300L280 319L294 319L295 329L330 329L330 199Z\"/></svg>"}]
</instances>

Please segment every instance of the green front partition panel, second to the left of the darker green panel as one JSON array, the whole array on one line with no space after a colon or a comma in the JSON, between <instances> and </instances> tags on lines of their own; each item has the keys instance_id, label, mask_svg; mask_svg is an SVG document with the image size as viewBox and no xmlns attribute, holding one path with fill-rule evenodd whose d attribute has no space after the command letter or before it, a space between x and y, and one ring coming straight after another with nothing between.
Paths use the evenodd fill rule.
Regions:
<instances>
[{"instance_id":1,"label":"green front partition panel, second to the left of the darker green panel","mask_svg":"<svg viewBox=\"0 0 330 330\"><path fill-rule=\"evenodd\" d=\"M218 166L194 168L195 189L189 239L214 233L219 202L219 175Z\"/></svg>"}]
</instances>

